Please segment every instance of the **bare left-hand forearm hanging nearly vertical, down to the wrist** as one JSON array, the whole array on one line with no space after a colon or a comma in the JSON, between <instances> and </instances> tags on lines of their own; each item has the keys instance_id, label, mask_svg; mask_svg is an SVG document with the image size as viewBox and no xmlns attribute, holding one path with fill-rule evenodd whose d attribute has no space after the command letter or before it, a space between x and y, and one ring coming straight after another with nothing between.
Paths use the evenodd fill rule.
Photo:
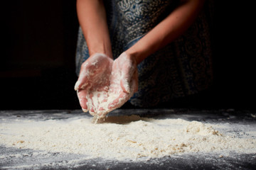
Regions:
<instances>
[{"instance_id":1,"label":"bare left-hand forearm hanging nearly vertical, down to the wrist","mask_svg":"<svg viewBox=\"0 0 256 170\"><path fill-rule=\"evenodd\" d=\"M105 6L102 0L78 0L78 21L90 55L102 53L112 57Z\"/></svg>"}]
</instances>

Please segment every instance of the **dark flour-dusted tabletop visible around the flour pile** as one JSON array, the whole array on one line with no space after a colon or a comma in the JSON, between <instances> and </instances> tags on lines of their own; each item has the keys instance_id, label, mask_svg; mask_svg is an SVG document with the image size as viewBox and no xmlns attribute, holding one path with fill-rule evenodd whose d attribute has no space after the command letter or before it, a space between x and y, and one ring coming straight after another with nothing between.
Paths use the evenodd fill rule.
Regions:
<instances>
[{"instance_id":1,"label":"dark flour-dusted tabletop visible around the flour pile","mask_svg":"<svg viewBox=\"0 0 256 170\"><path fill-rule=\"evenodd\" d=\"M140 115L151 118L183 118L203 123L240 123L256 128L255 111L218 111L189 109L117 109L110 115ZM161 113L161 114L159 114ZM81 116L81 111L0 111L0 123L6 119L67 119ZM239 128L234 130L241 132ZM242 134L242 133L241 133ZM256 138L256 137L255 137ZM255 146L256 147L256 146ZM0 169L256 169L256 153L232 153L220 157L218 153L191 153L150 159L145 162L119 162L105 159L80 159L79 154L46 153L33 149L17 149L0 145ZM15 157L15 155L21 155ZM46 157L47 154L47 157ZM50 155L50 157L49 157ZM69 164L65 164L69 162ZM72 163L73 162L73 163Z\"/></svg>"}]
</instances>

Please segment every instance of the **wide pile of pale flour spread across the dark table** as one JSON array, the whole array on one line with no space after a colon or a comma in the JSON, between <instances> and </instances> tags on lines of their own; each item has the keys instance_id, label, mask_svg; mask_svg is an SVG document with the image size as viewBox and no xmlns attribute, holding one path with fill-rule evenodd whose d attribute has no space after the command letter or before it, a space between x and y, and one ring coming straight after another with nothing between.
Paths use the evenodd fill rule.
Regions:
<instances>
[{"instance_id":1,"label":"wide pile of pale flour spread across the dark table","mask_svg":"<svg viewBox=\"0 0 256 170\"><path fill-rule=\"evenodd\" d=\"M254 135L238 137L214 125L182 119L140 118L138 115L65 120L2 121L0 145L46 152L66 152L117 160L145 160L190 152L255 153ZM219 131L218 131L219 129Z\"/></svg>"}]
</instances>

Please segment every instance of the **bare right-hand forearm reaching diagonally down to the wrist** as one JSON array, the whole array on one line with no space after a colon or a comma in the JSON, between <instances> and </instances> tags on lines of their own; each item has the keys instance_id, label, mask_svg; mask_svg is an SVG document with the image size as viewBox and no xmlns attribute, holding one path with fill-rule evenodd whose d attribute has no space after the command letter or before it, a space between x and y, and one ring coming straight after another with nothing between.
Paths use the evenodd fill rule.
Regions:
<instances>
[{"instance_id":1,"label":"bare right-hand forearm reaching diagonally down to the wrist","mask_svg":"<svg viewBox=\"0 0 256 170\"><path fill-rule=\"evenodd\" d=\"M164 21L147 33L126 52L135 57L137 64L184 33L198 16L204 0L185 0L181 2Z\"/></svg>"}]
</instances>

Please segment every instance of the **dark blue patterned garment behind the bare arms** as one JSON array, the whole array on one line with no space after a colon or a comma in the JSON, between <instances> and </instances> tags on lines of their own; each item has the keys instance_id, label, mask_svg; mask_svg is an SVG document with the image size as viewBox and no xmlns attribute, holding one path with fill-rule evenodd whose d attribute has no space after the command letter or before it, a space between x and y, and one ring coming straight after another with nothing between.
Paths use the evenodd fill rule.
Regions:
<instances>
[{"instance_id":1,"label":"dark blue patterned garment behind the bare arms","mask_svg":"<svg viewBox=\"0 0 256 170\"><path fill-rule=\"evenodd\" d=\"M177 0L105 1L114 59L134 45L176 8ZM212 84L210 1L186 33L138 65L139 91L130 98L134 106L151 107L171 99L196 94ZM76 72L89 57L82 30L78 31Z\"/></svg>"}]
</instances>

